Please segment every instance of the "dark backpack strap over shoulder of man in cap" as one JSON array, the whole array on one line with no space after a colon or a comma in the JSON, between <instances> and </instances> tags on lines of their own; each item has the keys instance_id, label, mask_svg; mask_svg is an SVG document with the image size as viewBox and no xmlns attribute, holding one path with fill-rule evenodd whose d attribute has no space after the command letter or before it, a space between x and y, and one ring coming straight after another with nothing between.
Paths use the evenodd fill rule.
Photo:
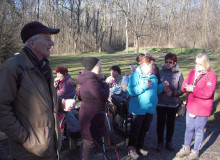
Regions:
<instances>
[{"instance_id":1,"label":"dark backpack strap over shoulder of man in cap","mask_svg":"<svg viewBox=\"0 0 220 160\"><path fill-rule=\"evenodd\" d=\"M26 63L25 63L24 57L20 53L14 55L14 57L18 63L18 67L17 67L17 71L16 71L16 74L17 74L16 86L17 86L17 90L19 90L19 88L21 87L21 82L22 82L23 75L25 72Z\"/></svg>"}]
</instances>

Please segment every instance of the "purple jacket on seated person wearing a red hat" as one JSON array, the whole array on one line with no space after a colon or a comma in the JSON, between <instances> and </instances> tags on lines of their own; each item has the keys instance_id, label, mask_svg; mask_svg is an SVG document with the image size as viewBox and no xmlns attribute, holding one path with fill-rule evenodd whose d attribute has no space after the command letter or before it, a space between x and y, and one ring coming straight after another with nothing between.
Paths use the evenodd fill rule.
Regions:
<instances>
[{"instance_id":1,"label":"purple jacket on seated person wearing a red hat","mask_svg":"<svg viewBox=\"0 0 220 160\"><path fill-rule=\"evenodd\" d=\"M66 75L63 81L59 82L61 89L57 93L57 95L64 99L72 99L76 94L76 86L70 85L73 79L69 74Z\"/></svg>"}]
</instances>

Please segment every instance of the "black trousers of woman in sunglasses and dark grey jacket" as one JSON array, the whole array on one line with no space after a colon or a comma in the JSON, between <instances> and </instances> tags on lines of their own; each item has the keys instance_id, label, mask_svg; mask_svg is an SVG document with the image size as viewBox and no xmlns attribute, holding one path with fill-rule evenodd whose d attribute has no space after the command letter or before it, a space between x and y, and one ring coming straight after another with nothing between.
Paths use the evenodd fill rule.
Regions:
<instances>
[{"instance_id":1,"label":"black trousers of woman in sunglasses and dark grey jacket","mask_svg":"<svg viewBox=\"0 0 220 160\"><path fill-rule=\"evenodd\" d=\"M164 128L166 124L166 142L172 142L177 108L157 107L157 138L163 143Z\"/></svg>"}]
</instances>

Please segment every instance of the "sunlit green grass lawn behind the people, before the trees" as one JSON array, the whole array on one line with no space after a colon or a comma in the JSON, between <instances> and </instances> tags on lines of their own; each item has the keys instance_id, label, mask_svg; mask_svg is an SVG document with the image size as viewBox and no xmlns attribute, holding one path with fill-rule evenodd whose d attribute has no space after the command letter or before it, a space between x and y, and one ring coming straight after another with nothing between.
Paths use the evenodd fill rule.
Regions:
<instances>
[{"instance_id":1,"label":"sunlit green grass lawn behind the people, before the trees","mask_svg":"<svg viewBox=\"0 0 220 160\"><path fill-rule=\"evenodd\" d=\"M145 51L150 51L153 57L156 59L157 66L161 69L161 65L164 63L164 56L166 53L161 53L161 49L157 48L147 48L141 49L140 53ZM204 49L163 49L163 52L173 52L177 54L178 65L180 66L180 71L183 76L186 77L189 71L193 68L194 56L199 52L204 52ZM212 54L212 50L207 51L211 67L215 71L218 79L217 88L215 91L215 102L213 107L212 115L209 117L208 126L209 127L219 127L220 128L220 54ZM83 57L93 56L97 57L102 62L102 73L107 77L110 75L109 68L112 65L118 65L121 68L122 74L130 73L129 64L136 66L136 56L134 50L131 49L128 54L125 51L122 52L103 52L103 53L84 53L84 54L65 54L65 55L53 55L50 56L50 65L55 76L55 69L57 67L67 67L69 69L69 74L76 79L78 72L83 70L81 61Z\"/></svg>"}]
</instances>

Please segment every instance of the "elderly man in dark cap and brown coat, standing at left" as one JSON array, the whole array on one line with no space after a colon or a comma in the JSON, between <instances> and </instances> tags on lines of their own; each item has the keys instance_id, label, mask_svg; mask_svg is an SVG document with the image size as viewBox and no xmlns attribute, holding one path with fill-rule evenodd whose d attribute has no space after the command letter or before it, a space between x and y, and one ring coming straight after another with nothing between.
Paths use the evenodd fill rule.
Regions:
<instances>
[{"instance_id":1,"label":"elderly man in dark cap and brown coat, standing at left","mask_svg":"<svg viewBox=\"0 0 220 160\"><path fill-rule=\"evenodd\" d=\"M47 57L54 46L51 34L59 29L30 22L21 30L25 44L20 56L9 58L0 69L0 130L9 140L16 160L53 160L59 157L61 130L57 112L65 100L57 98ZM25 63L18 87L17 68ZM74 107L74 102L70 110Z\"/></svg>"}]
</instances>

